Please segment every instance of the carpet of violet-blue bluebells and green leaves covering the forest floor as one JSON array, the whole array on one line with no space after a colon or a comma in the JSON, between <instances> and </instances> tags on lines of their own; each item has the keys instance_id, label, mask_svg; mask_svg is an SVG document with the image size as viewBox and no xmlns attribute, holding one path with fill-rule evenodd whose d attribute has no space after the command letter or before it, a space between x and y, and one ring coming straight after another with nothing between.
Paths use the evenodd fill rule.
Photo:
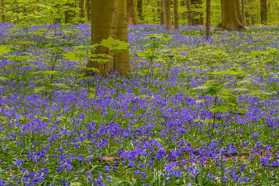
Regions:
<instances>
[{"instance_id":1,"label":"carpet of violet-blue bluebells and green leaves covering the forest floor","mask_svg":"<svg viewBox=\"0 0 279 186\"><path fill-rule=\"evenodd\" d=\"M278 185L279 27L249 29L130 26L133 73L84 78L63 54L90 25L0 24L0 185ZM151 64L137 53L162 33Z\"/></svg>"}]
</instances>

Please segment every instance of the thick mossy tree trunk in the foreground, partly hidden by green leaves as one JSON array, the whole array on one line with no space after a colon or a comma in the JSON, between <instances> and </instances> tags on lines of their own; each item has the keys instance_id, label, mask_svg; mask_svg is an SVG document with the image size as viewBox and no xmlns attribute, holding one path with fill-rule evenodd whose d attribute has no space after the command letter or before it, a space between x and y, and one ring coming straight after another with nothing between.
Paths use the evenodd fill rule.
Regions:
<instances>
[{"instance_id":1,"label":"thick mossy tree trunk in the foreground, partly hidden by green leaves","mask_svg":"<svg viewBox=\"0 0 279 186\"><path fill-rule=\"evenodd\" d=\"M100 43L103 39L112 37L128 42L127 29L127 1L123 0L91 0L91 43ZM98 46L94 54L108 54L113 56L112 61L100 65L97 61L90 60L87 67L94 67L106 75L118 70L121 76L128 76L132 72L129 61L129 51L122 50L114 53L107 47Z\"/></svg>"}]
</instances>

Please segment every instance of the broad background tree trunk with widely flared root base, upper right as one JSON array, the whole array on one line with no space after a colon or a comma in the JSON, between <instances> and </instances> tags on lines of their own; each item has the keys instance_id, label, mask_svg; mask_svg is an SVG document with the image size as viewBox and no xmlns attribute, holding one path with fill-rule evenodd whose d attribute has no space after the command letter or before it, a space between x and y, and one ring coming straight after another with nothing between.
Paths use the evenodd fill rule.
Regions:
<instances>
[{"instance_id":1,"label":"broad background tree trunk with widely flared root base, upper right","mask_svg":"<svg viewBox=\"0 0 279 186\"><path fill-rule=\"evenodd\" d=\"M246 29L238 19L236 1L238 0L221 0L222 19L214 30Z\"/></svg>"}]
</instances>

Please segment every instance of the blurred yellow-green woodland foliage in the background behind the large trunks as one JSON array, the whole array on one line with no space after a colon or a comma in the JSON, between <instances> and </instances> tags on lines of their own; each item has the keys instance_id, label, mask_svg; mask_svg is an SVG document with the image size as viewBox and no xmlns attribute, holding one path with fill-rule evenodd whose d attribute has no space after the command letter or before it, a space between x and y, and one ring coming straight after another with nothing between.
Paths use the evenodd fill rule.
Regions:
<instances>
[{"instance_id":1,"label":"blurred yellow-green woodland foliage in the background behind the large trunks","mask_svg":"<svg viewBox=\"0 0 279 186\"><path fill-rule=\"evenodd\" d=\"M130 24L162 24L162 0L127 0L128 11L134 11L136 22ZM279 0L239 0L247 26L278 25ZM1 0L0 21L22 24L90 23L90 0ZM171 1L173 12L173 1ZM179 0L179 24L205 24L205 0ZM129 13L128 13L129 15ZM172 14L173 15L173 14ZM191 15L192 23L187 21ZM267 18L263 17L267 15ZM211 0L211 25L221 20L220 0Z\"/></svg>"}]
</instances>

